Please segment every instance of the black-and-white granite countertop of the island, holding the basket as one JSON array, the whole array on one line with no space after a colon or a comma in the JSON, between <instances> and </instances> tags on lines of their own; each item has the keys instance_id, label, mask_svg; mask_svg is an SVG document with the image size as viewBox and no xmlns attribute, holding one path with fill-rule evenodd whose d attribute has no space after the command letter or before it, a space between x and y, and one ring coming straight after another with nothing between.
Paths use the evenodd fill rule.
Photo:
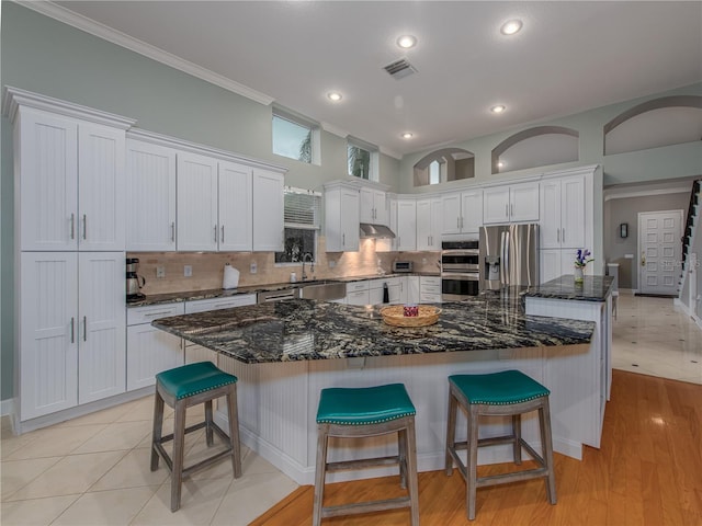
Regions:
<instances>
[{"instance_id":1,"label":"black-and-white granite countertop of the island, holding the basket","mask_svg":"<svg viewBox=\"0 0 702 526\"><path fill-rule=\"evenodd\" d=\"M397 328L382 307L292 299L161 318L151 324L248 364L589 343L590 321L525 316L521 298L442 304L439 322Z\"/></svg>"}]
</instances>

